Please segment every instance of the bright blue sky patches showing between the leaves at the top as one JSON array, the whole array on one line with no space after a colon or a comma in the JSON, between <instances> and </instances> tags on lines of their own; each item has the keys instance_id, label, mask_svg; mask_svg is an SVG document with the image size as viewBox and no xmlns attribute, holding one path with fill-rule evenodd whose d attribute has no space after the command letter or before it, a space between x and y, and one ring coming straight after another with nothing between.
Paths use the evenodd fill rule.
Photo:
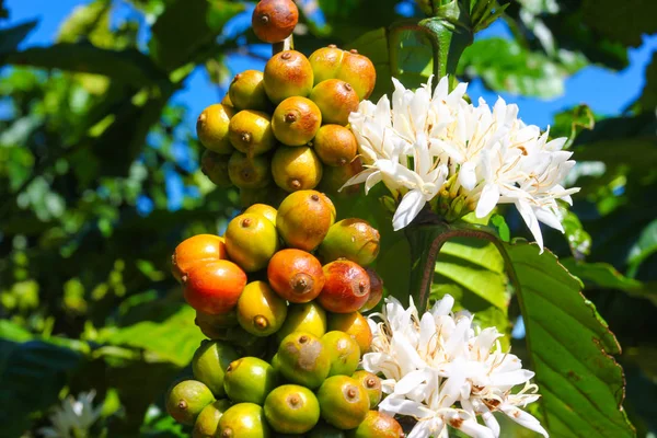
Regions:
<instances>
[{"instance_id":1,"label":"bright blue sky patches showing between the leaves at the top","mask_svg":"<svg viewBox=\"0 0 657 438\"><path fill-rule=\"evenodd\" d=\"M23 47L31 45L47 45L55 35L61 21L70 11L83 0L8 0L10 20L2 26L38 19L39 24L35 32L24 42ZM139 16L127 3L118 2L119 7L115 13L115 20L122 20L126 15ZM240 25L240 23L238 23ZM505 36L506 28L498 24L485 31L483 36ZM140 35L143 42L148 35ZM266 49L265 49L266 50ZM572 107L576 104L587 103L593 112L604 115L619 114L627 104L633 102L643 90L644 71L650 59L652 53L657 50L657 35L644 38L644 45L637 49L630 50L631 66L625 70L615 72L599 67L588 67L570 77L566 81L566 91L563 96L542 101L537 99L502 94L508 102L516 102L520 106L520 116L527 123L546 126L552 122L555 113ZM263 68L263 61L254 61L249 58L233 56L229 62L233 72L246 68ZM185 83L185 89L174 96L176 102L184 103L192 111L188 123L194 122L194 115L216 103L221 92L209 82L203 70L195 71ZM473 83L469 88L472 97L480 95L487 101L494 101L497 93L486 91L481 83Z\"/></svg>"}]
</instances>

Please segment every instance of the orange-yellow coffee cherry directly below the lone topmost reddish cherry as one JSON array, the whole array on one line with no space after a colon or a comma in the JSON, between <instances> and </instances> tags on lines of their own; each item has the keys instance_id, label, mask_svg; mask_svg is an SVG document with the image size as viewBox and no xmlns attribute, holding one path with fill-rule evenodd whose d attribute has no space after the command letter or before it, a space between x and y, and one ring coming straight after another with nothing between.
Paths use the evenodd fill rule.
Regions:
<instances>
[{"instance_id":1,"label":"orange-yellow coffee cherry directly below the lone topmost reddish cherry","mask_svg":"<svg viewBox=\"0 0 657 438\"><path fill-rule=\"evenodd\" d=\"M267 61L264 84L275 104L287 97L304 97L312 90L312 67L308 58L297 50L280 51Z\"/></svg>"}]
</instances>

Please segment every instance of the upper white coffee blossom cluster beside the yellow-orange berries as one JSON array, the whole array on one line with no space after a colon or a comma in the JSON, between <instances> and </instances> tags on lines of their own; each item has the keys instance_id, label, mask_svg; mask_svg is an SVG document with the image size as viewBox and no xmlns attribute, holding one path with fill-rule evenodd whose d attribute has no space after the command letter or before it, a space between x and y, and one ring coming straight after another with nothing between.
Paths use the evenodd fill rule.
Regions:
<instances>
[{"instance_id":1,"label":"upper white coffee blossom cluster beside the yellow-orange berries","mask_svg":"<svg viewBox=\"0 0 657 438\"><path fill-rule=\"evenodd\" d=\"M548 132L518 118L518 106L498 99L493 110L463 95L466 84L448 92L442 78L431 94L431 79L416 91L393 79L392 107L360 103L349 124L366 170L345 186L365 183L366 193L383 182L399 207L395 230L408 226L431 199L437 212L453 220L474 211L483 218L498 204L514 204L543 247L539 222L563 232L557 200L572 203L579 188L562 182L575 164L562 151L565 138L548 141Z\"/></svg>"}]
</instances>

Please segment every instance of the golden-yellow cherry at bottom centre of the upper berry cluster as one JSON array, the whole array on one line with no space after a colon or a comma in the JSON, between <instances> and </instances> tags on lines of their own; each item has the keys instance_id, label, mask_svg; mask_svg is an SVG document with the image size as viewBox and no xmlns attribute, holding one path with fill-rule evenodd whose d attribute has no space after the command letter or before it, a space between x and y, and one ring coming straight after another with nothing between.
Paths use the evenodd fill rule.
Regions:
<instances>
[{"instance_id":1,"label":"golden-yellow cherry at bottom centre of the upper berry cluster","mask_svg":"<svg viewBox=\"0 0 657 438\"><path fill-rule=\"evenodd\" d=\"M286 192L314 188L322 180L322 162L308 147L278 148L272 159L272 175Z\"/></svg>"}]
</instances>

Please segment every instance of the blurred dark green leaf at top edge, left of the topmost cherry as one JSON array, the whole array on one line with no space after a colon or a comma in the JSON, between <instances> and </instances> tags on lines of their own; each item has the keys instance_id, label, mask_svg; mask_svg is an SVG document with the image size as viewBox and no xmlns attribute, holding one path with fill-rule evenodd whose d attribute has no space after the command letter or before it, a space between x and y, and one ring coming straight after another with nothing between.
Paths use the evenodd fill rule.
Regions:
<instances>
[{"instance_id":1,"label":"blurred dark green leaf at top edge, left of the topmost cherry","mask_svg":"<svg viewBox=\"0 0 657 438\"><path fill-rule=\"evenodd\" d=\"M170 1L151 27L148 45L151 57L169 72L195 61L196 54L212 43L223 25L243 10L243 3L232 1Z\"/></svg>"}]
</instances>

